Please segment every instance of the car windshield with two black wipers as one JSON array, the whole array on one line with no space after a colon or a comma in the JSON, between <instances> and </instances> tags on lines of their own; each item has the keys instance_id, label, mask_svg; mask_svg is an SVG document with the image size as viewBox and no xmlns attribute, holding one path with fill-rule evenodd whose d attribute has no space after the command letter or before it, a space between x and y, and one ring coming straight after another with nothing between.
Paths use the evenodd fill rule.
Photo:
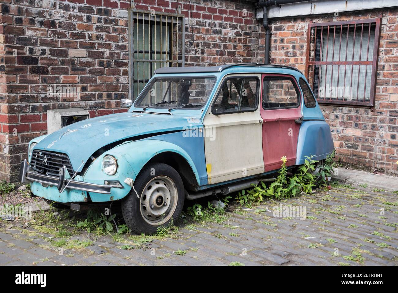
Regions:
<instances>
[{"instance_id":1,"label":"car windshield with two black wipers","mask_svg":"<svg viewBox=\"0 0 398 293\"><path fill-rule=\"evenodd\" d=\"M135 103L138 107L200 109L215 83L213 77L155 78Z\"/></svg>"}]
</instances>

